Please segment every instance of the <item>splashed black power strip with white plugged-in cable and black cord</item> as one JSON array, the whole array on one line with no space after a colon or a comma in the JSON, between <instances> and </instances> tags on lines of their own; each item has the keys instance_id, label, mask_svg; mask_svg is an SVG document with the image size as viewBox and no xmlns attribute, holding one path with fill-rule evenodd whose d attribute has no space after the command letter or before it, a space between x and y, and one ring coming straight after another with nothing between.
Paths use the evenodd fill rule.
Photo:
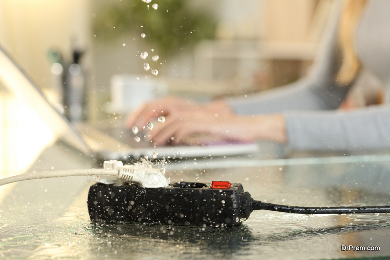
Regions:
<instances>
[{"instance_id":1,"label":"splashed black power strip with white plugged-in cable and black cord","mask_svg":"<svg viewBox=\"0 0 390 260\"><path fill-rule=\"evenodd\" d=\"M0 186L33 179L89 176L91 221L235 226L254 210L296 214L390 213L390 206L299 207L255 201L241 184L229 182L171 184L164 167L150 162L125 165L105 161L103 169L72 169L21 174L0 180Z\"/></svg>"}]
</instances>

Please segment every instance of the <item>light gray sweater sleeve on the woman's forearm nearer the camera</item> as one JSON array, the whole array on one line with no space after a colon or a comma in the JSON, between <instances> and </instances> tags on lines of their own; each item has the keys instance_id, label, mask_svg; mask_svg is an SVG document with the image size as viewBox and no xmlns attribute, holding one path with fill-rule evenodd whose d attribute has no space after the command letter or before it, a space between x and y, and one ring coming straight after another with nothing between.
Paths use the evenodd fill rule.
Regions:
<instances>
[{"instance_id":1,"label":"light gray sweater sleeve on the woman's forearm nearer the camera","mask_svg":"<svg viewBox=\"0 0 390 260\"><path fill-rule=\"evenodd\" d=\"M390 107L285 113L291 149L389 149Z\"/></svg>"}]
</instances>

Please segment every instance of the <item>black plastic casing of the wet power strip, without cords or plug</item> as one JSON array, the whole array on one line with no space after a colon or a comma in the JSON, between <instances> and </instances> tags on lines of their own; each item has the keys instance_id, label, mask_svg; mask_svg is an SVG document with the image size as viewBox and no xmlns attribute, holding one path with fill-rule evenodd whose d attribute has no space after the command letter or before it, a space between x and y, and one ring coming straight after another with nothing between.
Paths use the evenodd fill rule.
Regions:
<instances>
[{"instance_id":1,"label":"black plastic casing of the wet power strip, without cords or plug","mask_svg":"<svg viewBox=\"0 0 390 260\"><path fill-rule=\"evenodd\" d=\"M106 223L236 226L252 212L251 195L241 184L228 189L187 182L164 188L95 184L87 203L91 221Z\"/></svg>"}]
</instances>

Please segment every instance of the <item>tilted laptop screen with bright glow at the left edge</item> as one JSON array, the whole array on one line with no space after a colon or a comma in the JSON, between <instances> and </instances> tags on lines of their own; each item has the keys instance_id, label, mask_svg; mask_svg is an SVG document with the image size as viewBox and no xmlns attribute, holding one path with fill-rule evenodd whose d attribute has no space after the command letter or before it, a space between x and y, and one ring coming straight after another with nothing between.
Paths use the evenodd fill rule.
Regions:
<instances>
[{"instance_id":1,"label":"tilted laptop screen with bright glow at the left edge","mask_svg":"<svg viewBox=\"0 0 390 260\"><path fill-rule=\"evenodd\" d=\"M61 140L91 154L74 126L48 102L39 87L0 46L0 166L28 165ZM29 158L29 154L31 158ZM34 155L35 154L35 155ZM10 158L19 158L13 162Z\"/></svg>"}]
</instances>

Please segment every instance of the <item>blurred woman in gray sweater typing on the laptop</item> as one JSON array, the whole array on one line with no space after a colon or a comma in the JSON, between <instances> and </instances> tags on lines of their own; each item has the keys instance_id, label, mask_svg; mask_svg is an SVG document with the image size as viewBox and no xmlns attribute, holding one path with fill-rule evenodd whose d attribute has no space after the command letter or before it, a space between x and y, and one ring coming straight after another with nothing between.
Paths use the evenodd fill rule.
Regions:
<instances>
[{"instance_id":1,"label":"blurred woman in gray sweater typing on the laptop","mask_svg":"<svg viewBox=\"0 0 390 260\"><path fill-rule=\"evenodd\" d=\"M351 108L351 86L364 72L384 86L381 105ZM151 130L157 145L194 135L221 141L273 140L290 149L390 148L390 1L340 2L311 73L284 87L208 104L168 96L131 113L126 126Z\"/></svg>"}]
</instances>

